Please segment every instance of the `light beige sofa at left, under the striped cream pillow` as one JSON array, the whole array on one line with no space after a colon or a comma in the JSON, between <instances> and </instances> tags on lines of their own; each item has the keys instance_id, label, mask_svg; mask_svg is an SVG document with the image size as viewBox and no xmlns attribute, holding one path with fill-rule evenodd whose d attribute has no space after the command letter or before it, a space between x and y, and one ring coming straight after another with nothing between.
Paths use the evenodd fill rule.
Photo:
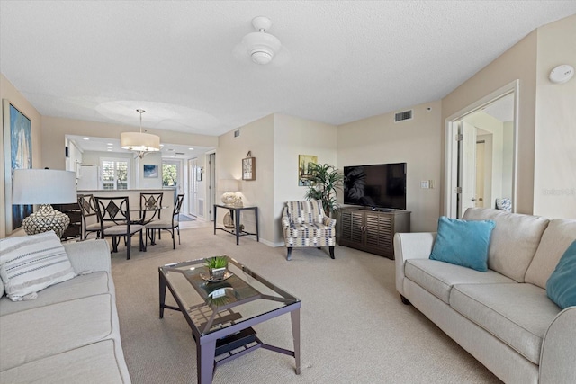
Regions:
<instances>
[{"instance_id":1,"label":"light beige sofa at left, under the striped cream pillow","mask_svg":"<svg viewBox=\"0 0 576 384\"><path fill-rule=\"evenodd\" d=\"M74 272L85 274L37 299L0 299L0 382L130 383L108 243L64 246Z\"/></svg>"}]
</instances>

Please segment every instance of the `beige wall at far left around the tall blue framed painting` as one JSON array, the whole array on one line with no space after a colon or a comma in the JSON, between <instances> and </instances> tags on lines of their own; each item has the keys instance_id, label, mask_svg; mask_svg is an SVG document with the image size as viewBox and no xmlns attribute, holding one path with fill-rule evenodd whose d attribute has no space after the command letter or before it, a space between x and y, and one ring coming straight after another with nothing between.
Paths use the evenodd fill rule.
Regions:
<instances>
[{"instance_id":1,"label":"beige wall at far left around the tall blue framed painting","mask_svg":"<svg viewBox=\"0 0 576 384\"><path fill-rule=\"evenodd\" d=\"M31 130L32 130L32 167L41 168L44 166L41 161L41 146L40 146L40 127L41 119L40 113L28 103L28 100L18 92L14 85L8 81L4 75L0 74L0 99L7 100L12 103L18 111L22 112L28 119L31 120ZM9 138L10 135L10 121L7 120L8 116L4 116L4 108L1 108L2 121L3 121L3 135L2 136L2 146L0 146L0 156L2 157L2 170L3 177L2 183L0 183L0 209L6 211L12 211L12 175L11 175L11 163L10 163L10 140L4 140L4 137ZM7 142L5 142L7 141ZM6 152L4 153L4 149ZM4 217L0 219L0 237L5 237L10 232L12 232L12 221L8 226L7 220L12 220L12 215L4 214Z\"/></svg>"}]
</instances>

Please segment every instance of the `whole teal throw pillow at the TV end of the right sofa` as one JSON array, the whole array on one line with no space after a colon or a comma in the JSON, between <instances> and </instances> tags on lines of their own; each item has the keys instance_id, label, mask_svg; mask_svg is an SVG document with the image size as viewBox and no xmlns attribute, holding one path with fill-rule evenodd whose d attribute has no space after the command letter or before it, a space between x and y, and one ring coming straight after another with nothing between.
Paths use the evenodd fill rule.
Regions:
<instances>
[{"instance_id":1,"label":"whole teal throw pillow at the TV end of the right sofa","mask_svg":"<svg viewBox=\"0 0 576 384\"><path fill-rule=\"evenodd\" d=\"M438 219L438 234L430 260L462 265L476 271L488 271L488 247L492 220Z\"/></svg>"}]
</instances>

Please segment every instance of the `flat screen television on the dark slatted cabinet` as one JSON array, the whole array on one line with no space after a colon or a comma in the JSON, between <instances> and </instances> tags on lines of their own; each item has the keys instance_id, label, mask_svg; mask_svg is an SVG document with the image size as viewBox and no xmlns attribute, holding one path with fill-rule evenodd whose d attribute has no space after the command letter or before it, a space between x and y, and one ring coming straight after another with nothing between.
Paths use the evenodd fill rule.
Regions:
<instances>
[{"instance_id":1,"label":"flat screen television on the dark slatted cabinet","mask_svg":"<svg viewBox=\"0 0 576 384\"><path fill-rule=\"evenodd\" d=\"M344 203L406 210L406 163L345 166Z\"/></svg>"}]
</instances>

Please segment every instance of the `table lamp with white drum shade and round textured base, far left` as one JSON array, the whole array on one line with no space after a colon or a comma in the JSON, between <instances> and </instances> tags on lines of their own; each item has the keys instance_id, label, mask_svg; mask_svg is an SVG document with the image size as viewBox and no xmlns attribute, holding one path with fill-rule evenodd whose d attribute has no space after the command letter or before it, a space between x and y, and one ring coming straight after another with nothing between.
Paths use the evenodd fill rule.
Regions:
<instances>
[{"instance_id":1,"label":"table lamp with white drum shade and round textured base, far left","mask_svg":"<svg viewBox=\"0 0 576 384\"><path fill-rule=\"evenodd\" d=\"M13 204L40 204L40 208L23 219L28 235L53 230L62 237L70 224L66 214L50 204L76 202L76 174L54 169L16 169L12 181Z\"/></svg>"}]
</instances>

